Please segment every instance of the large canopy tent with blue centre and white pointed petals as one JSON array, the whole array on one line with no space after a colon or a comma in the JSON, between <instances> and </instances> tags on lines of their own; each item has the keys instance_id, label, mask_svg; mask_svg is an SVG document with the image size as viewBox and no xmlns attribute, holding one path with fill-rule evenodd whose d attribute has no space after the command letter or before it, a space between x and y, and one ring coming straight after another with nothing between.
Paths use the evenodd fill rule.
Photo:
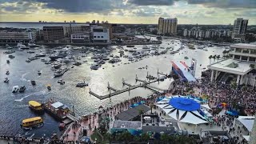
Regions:
<instances>
[{"instance_id":1,"label":"large canopy tent with blue centre and white pointed petals","mask_svg":"<svg viewBox=\"0 0 256 144\"><path fill-rule=\"evenodd\" d=\"M178 122L186 122L194 125L208 123L204 112L200 110L200 101L186 96L171 96L156 102L167 115Z\"/></svg>"}]
</instances>

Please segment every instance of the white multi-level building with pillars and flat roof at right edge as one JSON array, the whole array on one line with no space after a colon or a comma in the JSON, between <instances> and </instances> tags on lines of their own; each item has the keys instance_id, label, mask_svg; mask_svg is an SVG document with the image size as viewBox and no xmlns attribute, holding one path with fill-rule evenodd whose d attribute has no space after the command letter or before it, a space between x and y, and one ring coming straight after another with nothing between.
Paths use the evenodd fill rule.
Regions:
<instances>
[{"instance_id":1,"label":"white multi-level building with pillars and flat roof at right edge","mask_svg":"<svg viewBox=\"0 0 256 144\"><path fill-rule=\"evenodd\" d=\"M238 85L255 86L256 75L252 65L256 66L256 45L238 43L230 46L230 58L210 64L210 81L231 82L236 79Z\"/></svg>"}]
</instances>

